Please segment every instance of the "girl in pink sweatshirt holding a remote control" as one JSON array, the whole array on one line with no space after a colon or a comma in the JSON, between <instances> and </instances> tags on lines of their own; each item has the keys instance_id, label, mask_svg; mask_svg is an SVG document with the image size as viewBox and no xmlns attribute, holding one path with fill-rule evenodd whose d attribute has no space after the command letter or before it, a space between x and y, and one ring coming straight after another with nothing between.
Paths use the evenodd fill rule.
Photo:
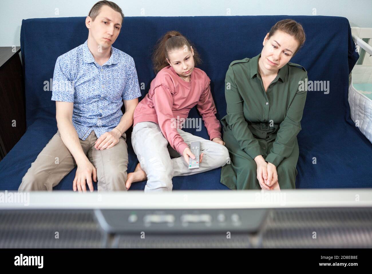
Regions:
<instances>
[{"instance_id":1,"label":"girl in pink sweatshirt holding a remote control","mask_svg":"<svg viewBox=\"0 0 372 274\"><path fill-rule=\"evenodd\" d=\"M126 188L147 178L145 192L171 191L173 176L216 169L227 163L228 150L221 139L221 125L210 90L210 79L195 67L198 53L179 32L170 31L157 44L150 90L134 111L132 146L138 161L128 174ZM201 114L209 140L177 128L192 107ZM199 169L189 170L189 145L200 141ZM180 157L182 155L182 157ZM171 159L171 156L176 157Z\"/></svg>"}]
</instances>

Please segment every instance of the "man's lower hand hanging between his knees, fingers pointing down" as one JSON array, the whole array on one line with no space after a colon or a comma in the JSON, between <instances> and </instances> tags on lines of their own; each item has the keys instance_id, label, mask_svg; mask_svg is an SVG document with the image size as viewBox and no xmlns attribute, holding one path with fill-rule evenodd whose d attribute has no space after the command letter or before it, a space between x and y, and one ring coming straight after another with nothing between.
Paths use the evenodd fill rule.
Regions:
<instances>
[{"instance_id":1,"label":"man's lower hand hanging between his knees, fingers pointing down","mask_svg":"<svg viewBox=\"0 0 372 274\"><path fill-rule=\"evenodd\" d=\"M97 170L90 163L89 160L83 161L77 165L77 170L75 174L75 179L73 182L73 190L78 190L79 192L86 192L86 183L89 186L90 192L93 192L92 174L94 182L97 182Z\"/></svg>"}]
</instances>

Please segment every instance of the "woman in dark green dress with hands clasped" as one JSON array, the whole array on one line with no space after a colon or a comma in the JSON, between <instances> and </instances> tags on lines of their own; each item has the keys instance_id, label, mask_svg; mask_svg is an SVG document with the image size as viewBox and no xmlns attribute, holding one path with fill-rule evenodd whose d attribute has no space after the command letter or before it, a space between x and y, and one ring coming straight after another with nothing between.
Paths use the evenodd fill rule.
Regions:
<instances>
[{"instance_id":1,"label":"woman in dark green dress with hands clasped","mask_svg":"<svg viewBox=\"0 0 372 274\"><path fill-rule=\"evenodd\" d=\"M230 64L221 121L231 157L221 183L230 189L295 188L296 136L307 95L299 81L307 71L289 60L304 42L301 24L282 20L267 33L259 55Z\"/></svg>"}]
</instances>

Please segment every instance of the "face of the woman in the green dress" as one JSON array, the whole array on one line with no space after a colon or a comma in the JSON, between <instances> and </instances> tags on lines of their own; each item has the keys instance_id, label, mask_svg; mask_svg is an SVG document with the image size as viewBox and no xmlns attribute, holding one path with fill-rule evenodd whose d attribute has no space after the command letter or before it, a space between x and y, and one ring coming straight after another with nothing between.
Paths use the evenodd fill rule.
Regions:
<instances>
[{"instance_id":1,"label":"face of the woman in the green dress","mask_svg":"<svg viewBox=\"0 0 372 274\"><path fill-rule=\"evenodd\" d=\"M262 64L267 70L278 70L291 60L299 43L292 35L276 31L272 37L263 40Z\"/></svg>"}]
</instances>

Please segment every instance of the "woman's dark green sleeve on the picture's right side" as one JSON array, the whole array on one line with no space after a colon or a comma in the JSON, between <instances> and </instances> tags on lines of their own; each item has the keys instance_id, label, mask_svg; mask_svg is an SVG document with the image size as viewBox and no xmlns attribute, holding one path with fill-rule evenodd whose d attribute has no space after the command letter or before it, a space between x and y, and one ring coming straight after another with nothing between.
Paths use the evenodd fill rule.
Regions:
<instances>
[{"instance_id":1,"label":"woman's dark green sleeve on the picture's right side","mask_svg":"<svg viewBox=\"0 0 372 274\"><path fill-rule=\"evenodd\" d=\"M305 82L307 72L305 72L302 81ZM307 89L300 89L300 86L289 105L284 120L280 123L272 149L265 161L278 167L283 159L288 158L294 149L297 134L301 130L302 113L305 107Z\"/></svg>"}]
</instances>

